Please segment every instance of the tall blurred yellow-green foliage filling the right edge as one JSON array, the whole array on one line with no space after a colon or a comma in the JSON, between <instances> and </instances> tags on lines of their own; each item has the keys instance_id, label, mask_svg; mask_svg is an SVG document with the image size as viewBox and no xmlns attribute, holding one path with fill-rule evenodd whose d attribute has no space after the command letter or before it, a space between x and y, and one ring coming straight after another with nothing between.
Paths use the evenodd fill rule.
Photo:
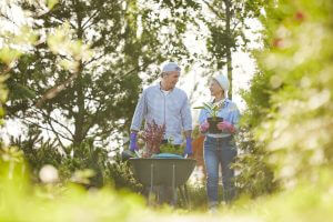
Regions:
<instances>
[{"instance_id":1,"label":"tall blurred yellow-green foliage filling the right edge","mask_svg":"<svg viewBox=\"0 0 333 222\"><path fill-rule=\"evenodd\" d=\"M332 164L332 1L270 1L244 124L284 186Z\"/></svg>"}]
</instances>

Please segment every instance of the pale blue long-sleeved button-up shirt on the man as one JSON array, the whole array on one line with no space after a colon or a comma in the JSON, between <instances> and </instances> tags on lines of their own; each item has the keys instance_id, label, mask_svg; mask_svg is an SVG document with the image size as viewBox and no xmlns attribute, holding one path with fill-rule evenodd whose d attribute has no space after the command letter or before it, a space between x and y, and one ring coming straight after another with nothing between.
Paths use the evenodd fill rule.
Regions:
<instances>
[{"instance_id":1,"label":"pale blue long-sleeved button-up shirt on the man","mask_svg":"<svg viewBox=\"0 0 333 222\"><path fill-rule=\"evenodd\" d=\"M147 88L137 104L131 130L139 131L143 120L145 123L154 120L159 125L165 124L164 139L172 137L174 144L181 144L182 131L192 130L192 115L186 93L174 88L164 94L160 83Z\"/></svg>"}]
</instances>

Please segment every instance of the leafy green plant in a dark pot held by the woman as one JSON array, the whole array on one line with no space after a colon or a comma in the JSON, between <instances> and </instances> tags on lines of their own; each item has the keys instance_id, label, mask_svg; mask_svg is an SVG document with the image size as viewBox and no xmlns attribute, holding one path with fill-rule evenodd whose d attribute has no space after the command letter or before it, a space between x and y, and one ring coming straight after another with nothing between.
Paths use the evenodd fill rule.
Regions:
<instances>
[{"instance_id":1,"label":"leafy green plant in a dark pot held by the woman","mask_svg":"<svg viewBox=\"0 0 333 222\"><path fill-rule=\"evenodd\" d=\"M221 103L206 103L204 102L202 107L195 107L194 109L204 109L209 112L210 117L206 121L210 124L209 133L221 133L222 131L218 129L218 123L223 121L223 118L218 117Z\"/></svg>"}]
</instances>

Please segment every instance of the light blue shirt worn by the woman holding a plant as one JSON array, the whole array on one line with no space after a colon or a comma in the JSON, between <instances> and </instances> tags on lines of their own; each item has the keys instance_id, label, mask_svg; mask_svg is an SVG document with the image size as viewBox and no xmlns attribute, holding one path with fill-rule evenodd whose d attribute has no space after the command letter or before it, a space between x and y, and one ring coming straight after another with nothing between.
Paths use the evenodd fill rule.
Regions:
<instances>
[{"instance_id":1,"label":"light blue shirt worn by the woman holding a plant","mask_svg":"<svg viewBox=\"0 0 333 222\"><path fill-rule=\"evenodd\" d=\"M212 102L209 102L212 104ZM210 118L210 113L208 110L202 109L199 114L199 124L202 124L208 118ZM223 104L221 105L219 112L218 112L219 118L223 118L224 121L230 122L233 124L235 128L238 128L239 121L240 121L240 111L234 102L232 102L229 99L225 99ZM205 133L208 137L212 138L226 138L230 137L231 133L229 132L222 132L219 134L211 134L211 133Z\"/></svg>"}]
</instances>

